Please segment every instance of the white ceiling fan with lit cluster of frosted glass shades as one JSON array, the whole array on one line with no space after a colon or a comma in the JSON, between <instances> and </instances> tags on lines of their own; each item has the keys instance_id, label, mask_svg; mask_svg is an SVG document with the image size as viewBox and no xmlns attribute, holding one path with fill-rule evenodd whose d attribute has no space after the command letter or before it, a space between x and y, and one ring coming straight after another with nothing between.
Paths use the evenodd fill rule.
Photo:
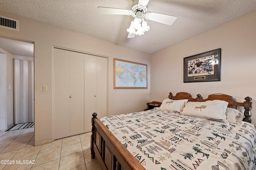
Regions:
<instances>
[{"instance_id":1,"label":"white ceiling fan with lit cluster of frosted glass shades","mask_svg":"<svg viewBox=\"0 0 256 170\"><path fill-rule=\"evenodd\" d=\"M99 6L98 12L100 14L133 16L134 20L131 22L130 27L127 29L129 32L128 38L133 38L135 35L143 35L145 31L150 29L145 19L164 23L166 25L172 25L172 23L174 23L177 18L176 16L148 12L148 2L149 0L136 0L132 4L131 10Z\"/></svg>"}]
</instances>

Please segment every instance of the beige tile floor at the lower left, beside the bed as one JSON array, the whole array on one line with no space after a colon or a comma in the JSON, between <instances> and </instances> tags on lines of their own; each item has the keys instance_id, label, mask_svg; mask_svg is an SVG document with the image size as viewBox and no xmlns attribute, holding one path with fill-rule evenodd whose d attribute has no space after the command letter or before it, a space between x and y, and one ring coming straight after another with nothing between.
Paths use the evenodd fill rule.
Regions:
<instances>
[{"instance_id":1,"label":"beige tile floor at the lower left, beside the bed","mask_svg":"<svg viewBox=\"0 0 256 170\"><path fill-rule=\"evenodd\" d=\"M90 133L34 147L33 127L0 131L0 170L101 170L90 153Z\"/></svg>"}]
</instances>

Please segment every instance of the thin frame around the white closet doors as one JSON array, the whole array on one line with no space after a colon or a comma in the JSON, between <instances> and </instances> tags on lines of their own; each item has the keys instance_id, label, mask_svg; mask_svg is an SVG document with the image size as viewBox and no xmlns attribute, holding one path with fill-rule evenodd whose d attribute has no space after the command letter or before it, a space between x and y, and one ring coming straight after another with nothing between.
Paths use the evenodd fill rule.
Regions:
<instances>
[{"instance_id":1,"label":"thin frame around the white closet doors","mask_svg":"<svg viewBox=\"0 0 256 170\"><path fill-rule=\"evenodd\" d=\"M55 122L55 116L54 116L54 48L58 48L58 49L63 49L63 50L68 50L68 51L74 51L74 52L78 52L78 53L84 53L84 54L88 54L88 55L94 55L94 56L98 56L98 57L104 57L107 58L107 114L106 116L108 116L108 105L109 105L109 57L105 56L105 55L99 55L99 54L95 54L95 53L90 53L90 52L86 52L86 51L80 51L80 50L76 50L76 49L70 49L70 48L66 48L66 47L60 47L60 46L56 46L56 45L52 45L52 141L54 141L55 136L54 136L54 122ZM91 117L91 116L90 116Z\"/></svg>"}]
</instances>

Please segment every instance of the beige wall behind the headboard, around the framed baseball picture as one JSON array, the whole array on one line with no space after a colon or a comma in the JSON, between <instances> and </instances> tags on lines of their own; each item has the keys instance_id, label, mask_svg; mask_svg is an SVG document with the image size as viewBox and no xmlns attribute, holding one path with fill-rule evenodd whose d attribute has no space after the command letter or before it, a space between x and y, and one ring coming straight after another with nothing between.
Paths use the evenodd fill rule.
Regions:
<instances>
[{"instance_id":1,"label":"beige wall behind the headboard, around the framed baseball picture","mask_svg":"<svg viewBox=\"0 0 256 170\"><path fill-rule=\"evenodd\" d=\"M162 101L168 93L222 93L243 102L253 99L256 125L256 12L196 35L151 55L150 99ZM221 81L183 83L183 58L221 48Z\"/></svg>"}]
</instances>

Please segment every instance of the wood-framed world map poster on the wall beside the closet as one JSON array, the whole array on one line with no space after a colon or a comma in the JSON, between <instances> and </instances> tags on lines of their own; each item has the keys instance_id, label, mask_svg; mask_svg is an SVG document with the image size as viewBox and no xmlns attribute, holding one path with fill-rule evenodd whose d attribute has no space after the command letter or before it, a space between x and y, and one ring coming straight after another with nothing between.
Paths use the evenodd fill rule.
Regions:
<instances>
[{"instance_id":1,"label":"wood-framed world map poster on the wall beside the closet","mask_svg":"<svg viewBox=\"0 0 256 170\"><path fill-rule=\"evenodd\" d=\"M148 88L148 65L114 59L114 89Z\"/></svg>"}]
</instances>

